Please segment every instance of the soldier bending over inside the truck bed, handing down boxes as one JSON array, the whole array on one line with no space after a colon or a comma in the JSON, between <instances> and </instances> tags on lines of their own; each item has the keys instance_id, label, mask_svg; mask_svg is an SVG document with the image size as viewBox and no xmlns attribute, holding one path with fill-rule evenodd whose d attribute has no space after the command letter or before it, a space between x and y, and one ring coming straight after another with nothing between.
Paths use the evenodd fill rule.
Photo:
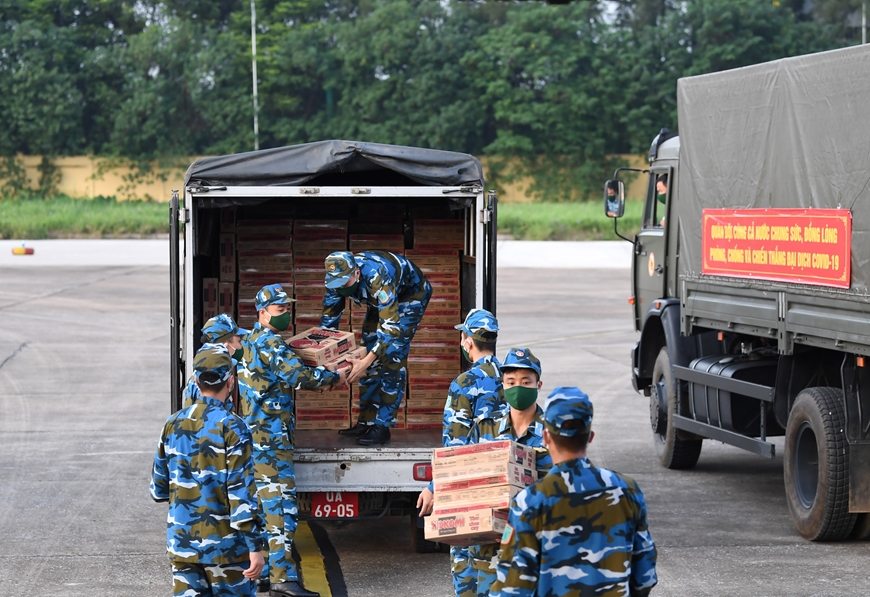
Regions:
<instances>
[{"instance_id":1,"label":"soldier bending over inside the truck bed, handing down boxes","mask_svg":"<svg viewBox=\"0 0 870 597\"><path fill-rule=\"evenodd\" d=\"M405 395L411 340L432 285L416 265L387 251L338 251L325 266L322 327L338 325L346 298L367 305L362 341L369 352L348 375L349 383L360 380L359 421L340 433L358 436L362 445L387 443Z\"/></svg>"}]
</instances>

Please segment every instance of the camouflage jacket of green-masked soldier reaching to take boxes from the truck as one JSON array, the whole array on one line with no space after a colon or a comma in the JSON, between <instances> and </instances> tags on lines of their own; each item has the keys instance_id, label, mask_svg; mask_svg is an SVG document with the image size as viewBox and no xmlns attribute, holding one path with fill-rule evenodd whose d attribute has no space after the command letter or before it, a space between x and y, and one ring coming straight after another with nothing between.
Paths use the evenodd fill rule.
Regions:
<instances>
[{"instance_id":1,"label":"camouflage jacket of green-masked soldier reaching to take boxes from the truck","mask_svg":"<svg viewBox=\"0 0 870 597\"><path fill-rule=\"evenodd\" d=\"M238 369L239 407L251 428L255 450L292 450L293 394L338 381L323 367L309 367L284 340L259 322L242 340L245 355Z\"/></svg>"}]
</instances>

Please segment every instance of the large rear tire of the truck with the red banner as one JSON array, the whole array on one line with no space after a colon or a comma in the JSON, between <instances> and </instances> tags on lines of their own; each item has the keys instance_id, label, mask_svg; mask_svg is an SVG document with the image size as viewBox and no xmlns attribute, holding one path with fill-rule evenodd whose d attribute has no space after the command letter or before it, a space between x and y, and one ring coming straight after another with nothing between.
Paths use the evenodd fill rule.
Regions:
<instances>
[{"instance_id":1,"label":"large rear tire of the truck with the red banner","mask_svg":"<svg viewBox=\"0 0 870 597\"><path fill-rule=\"evenodd\" d=\"M843 391L807 388L785 430L785 496L798 532L810 541L840 541L855 526L849 513L849 444Z\"/></svg>"}]
</instances>

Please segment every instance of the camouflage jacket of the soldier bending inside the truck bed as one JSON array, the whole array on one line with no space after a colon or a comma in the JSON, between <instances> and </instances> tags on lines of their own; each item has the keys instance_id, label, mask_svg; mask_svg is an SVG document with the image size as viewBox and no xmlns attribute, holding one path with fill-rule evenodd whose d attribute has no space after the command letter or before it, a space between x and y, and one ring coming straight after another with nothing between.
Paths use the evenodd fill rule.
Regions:
<instances>
[{"instance_id":1,"label":"camouflage jacket of the soldier bending inside the truck bed","mask_svg":"<svg viewBox=\"0 0 870 597\"><path fill-rule=\"evenodd\" d=\"M353 258L360 269L360 284L350 299L357 305L368 305L366 318L377 312L377 342L371 352L383 358L390 342L404 333L399 321L399 303L421 293L426 286L426 276L405 257L387 251L363 251ZM321 327L337 327L344 306L344 297L327 288Z\"/></svg>"}]
</instances>

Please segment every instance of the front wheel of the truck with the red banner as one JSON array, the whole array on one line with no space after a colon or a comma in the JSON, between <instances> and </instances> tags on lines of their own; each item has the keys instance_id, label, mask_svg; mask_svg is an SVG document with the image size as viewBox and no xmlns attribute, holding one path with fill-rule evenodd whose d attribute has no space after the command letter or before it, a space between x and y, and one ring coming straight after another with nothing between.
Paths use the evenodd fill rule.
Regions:
<instances>
[{"instance_id":1,"label":"front wheel of the truck with the red banner","mask_svg":"<svg viewBox=\"0 0 870 597\"><path fill-rule=\"evenodd\" d=\"M650 392L650 423L656 453L662 466L669 469L690 469L701 456L700 439L680 439L673 425L677 413L677 392L671 378L671 360L667 347L662 348L653 367Z\"/></svg>"}]
</instances>

